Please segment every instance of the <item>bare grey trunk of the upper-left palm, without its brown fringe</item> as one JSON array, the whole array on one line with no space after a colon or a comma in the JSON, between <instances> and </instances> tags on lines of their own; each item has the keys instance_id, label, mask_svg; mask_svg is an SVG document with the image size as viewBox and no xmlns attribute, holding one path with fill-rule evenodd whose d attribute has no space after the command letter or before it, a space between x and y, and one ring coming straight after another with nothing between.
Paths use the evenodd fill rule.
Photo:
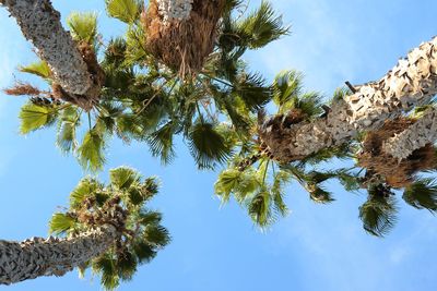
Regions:
<instances>
[{"instance_id":1,"label":"bare grey trunk of the upper-left palm, without its brown fringe","mask_svg":"<svg viewBox=\"0 0 437 291\"><path fill-rule=\"evenodd\" d=\"M61 87L70 94L86 95L93 86L92 75L50 0L0 0L0 3L15 17Z\"/></svg>"}]
</instances>

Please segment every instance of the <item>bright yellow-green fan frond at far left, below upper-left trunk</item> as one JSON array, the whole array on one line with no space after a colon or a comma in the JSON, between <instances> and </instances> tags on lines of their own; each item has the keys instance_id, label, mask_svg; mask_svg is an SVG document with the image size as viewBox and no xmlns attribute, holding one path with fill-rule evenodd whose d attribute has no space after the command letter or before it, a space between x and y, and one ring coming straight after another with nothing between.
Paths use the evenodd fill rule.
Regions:
<instances>
[{"instance_id":1,"label":"bright yellow-green fan frond at far left, below upper-left trunk","mask_svg":"<svg viewBox=\"0 0 437 291\"><path fill-rule=\"evenodd\" d=\"M56 121L58 110L54 106L38 106L33 102L25 104L20 111L20 133L27 134L38 129L50 126Z\"/></svg>"}]
</instances>

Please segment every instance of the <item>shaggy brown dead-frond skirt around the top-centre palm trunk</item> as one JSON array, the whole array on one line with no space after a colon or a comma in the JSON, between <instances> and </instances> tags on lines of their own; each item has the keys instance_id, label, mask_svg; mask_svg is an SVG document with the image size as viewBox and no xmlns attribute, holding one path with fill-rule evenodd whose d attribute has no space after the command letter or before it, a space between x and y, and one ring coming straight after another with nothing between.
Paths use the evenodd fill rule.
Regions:
<instances>
[{"instance_id":1,"label":"shaggy brown dead-frond skirt around the top-centre palm trunk","mask_svg":"<svg viewBox=\"0 0 437 291\"><path fill-rule=\"evenodd\" d=\"M226 0L194 0L188 20L166 25L156 0L151 0L141 17L146 49L168 68L178 71L181 77L196 75L213 51L225 3Z\"/></svg>"}]
</instances>

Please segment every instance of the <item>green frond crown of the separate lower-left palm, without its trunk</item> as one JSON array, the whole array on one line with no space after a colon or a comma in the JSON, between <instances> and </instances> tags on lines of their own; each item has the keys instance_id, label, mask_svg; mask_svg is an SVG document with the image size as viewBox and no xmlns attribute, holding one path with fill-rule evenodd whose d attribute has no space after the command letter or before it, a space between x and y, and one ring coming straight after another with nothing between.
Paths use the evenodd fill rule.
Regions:
<instances>
[{"instance_id":1,"label":"green frond crown of the separate lower-left palm, without its trunk","mask_svg":"<svg viewBox=\"0 0 437 291\"><path fill-rule=\"evenodd\" d=\"M170 241L161 226L162 215L144 208L156 193L155 178L142 179L126 167L111 170L106 186L85 178L71 192L69 209L54 215L50 232L74 238L102 226L115 228L116 235L106 251L79 266L81 274L91 267L102 276L104 288L115 289Z\"/></svg>"}]
</instances>

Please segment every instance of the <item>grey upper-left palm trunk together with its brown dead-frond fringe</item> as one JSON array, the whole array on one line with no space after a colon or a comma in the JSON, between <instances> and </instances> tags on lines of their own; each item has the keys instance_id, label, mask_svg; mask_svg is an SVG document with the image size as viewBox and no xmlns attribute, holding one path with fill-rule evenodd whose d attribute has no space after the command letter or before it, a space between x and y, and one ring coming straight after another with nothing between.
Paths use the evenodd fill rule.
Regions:
<instances>
[{"instance_id":1,"label":"grey upper-left palm trunk together with its brown dead-frond fringe","mask_svg":"<svg viewBox=\"0 0 437 291\"><path fill-rule=\"evenodd\" d=\"M90 110L98 98L103 75L95 56L85 44L78 44L60 23L60 14L49 0L1 1L16 19L23 35L36 47L50 68L59 98Z\"/></svg>"}]
</instances>

